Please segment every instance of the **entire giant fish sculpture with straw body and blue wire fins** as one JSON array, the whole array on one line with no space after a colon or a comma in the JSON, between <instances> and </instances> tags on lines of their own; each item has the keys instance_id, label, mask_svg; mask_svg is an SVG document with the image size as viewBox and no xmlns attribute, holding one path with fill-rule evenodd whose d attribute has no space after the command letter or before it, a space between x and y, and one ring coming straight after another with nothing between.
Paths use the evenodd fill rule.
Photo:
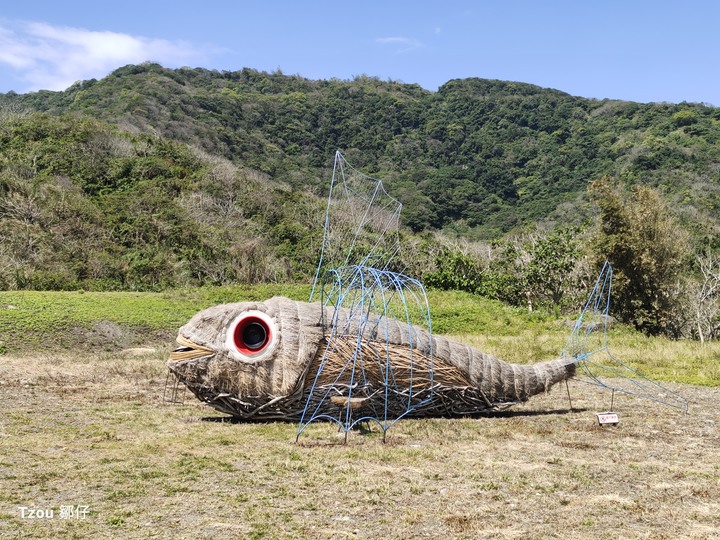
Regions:
<instances>
[{"instance_id":1,"label":"entire giant fish sculpture with straw body and blue wire fins","mask_svg":"<svg viewBox=\"0 0 720 540\"><path fill-rule=\"evenodd\" d=\"M511 364L433 334L424 287L392 271L401 208L382 181L336 152L310 294L321 302L273 297L201 311L180 329L170 371L211 407L240 419L295 420L298 436L316 419L347 434L363 419L386 431L407 416L474 414L571 377L687 411L687 400L610 353L607 262L554 360Z\"/></svg>"}]
</instances>

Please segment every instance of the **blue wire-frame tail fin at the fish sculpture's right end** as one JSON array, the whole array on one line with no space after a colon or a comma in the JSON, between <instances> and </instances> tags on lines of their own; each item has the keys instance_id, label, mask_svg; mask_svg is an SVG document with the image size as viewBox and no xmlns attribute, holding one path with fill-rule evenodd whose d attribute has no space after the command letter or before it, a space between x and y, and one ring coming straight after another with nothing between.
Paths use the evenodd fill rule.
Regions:
<instances>
[{"instance_id":1,"label":"blue wire-frame tail fin at the fish sculpture's right end","mask_svg":"<svg viewBox=\"0 0 720 540\"><path fill-rule=\"evenodd\" d=\"M576 364L575 380L688 411L683 396L631 368L608 344L612 266L605 262L562 351Z\"/></svg>"}]
</instances>

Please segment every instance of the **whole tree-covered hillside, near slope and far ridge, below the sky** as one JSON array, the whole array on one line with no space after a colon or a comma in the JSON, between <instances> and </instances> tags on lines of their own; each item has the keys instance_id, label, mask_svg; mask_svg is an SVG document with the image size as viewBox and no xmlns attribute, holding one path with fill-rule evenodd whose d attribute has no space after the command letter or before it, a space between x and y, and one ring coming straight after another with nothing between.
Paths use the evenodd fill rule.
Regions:
<instances>
[{"instance_id":1,"label":"whole tree-covered hillside, near slope and far ridge, below the sky","mask_svg":"<svg viewBox=\"0 0 720 540\"><path fill-rule=\"evenodd\" d=\"M429 232L496 240L577 225L598 212L587 186L602 177L659 188L695 245L718 247L718 108L143 64L64 92L0 94L0 288L310 279L338 149L403 203L421 233L405 242L419 277L437 260ZM453 272L436 283L456 286ZM482 287L525 298L502 272Z\"/></svg>"}]
</instances>

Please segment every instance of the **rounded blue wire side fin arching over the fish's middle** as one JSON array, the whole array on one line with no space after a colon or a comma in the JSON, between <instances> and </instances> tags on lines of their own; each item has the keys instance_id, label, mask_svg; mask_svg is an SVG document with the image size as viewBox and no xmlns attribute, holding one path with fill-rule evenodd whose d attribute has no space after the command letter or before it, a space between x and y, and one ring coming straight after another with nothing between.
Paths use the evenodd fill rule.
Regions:
<instances>
[{"instance_id":1,"label":"rounded blue wire side fin arching over the fish's middle","mask_svg":"<svg viewBox=\"0 0 720 540\"><path fill-rule=\"evenodd\" d=\"M361 422L386 432L432 399L430 308L422 284L397 272L355 265L328 271L322 283L326 348L303 410L298 436L315 420L347 434ZM401 339L398 339L398 336ZM403 358L391 342L403 342ZM329 377L328 377L329 375Z\"/></svg>"}]
</instances>

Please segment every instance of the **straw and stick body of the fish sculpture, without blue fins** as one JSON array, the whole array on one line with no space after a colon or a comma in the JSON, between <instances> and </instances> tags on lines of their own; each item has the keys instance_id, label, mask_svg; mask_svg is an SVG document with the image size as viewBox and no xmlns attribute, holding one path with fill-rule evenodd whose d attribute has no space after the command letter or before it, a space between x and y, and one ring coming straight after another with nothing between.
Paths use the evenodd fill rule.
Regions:
<instances>
[{"instance_id":1,"label":"straw and stick body of the fish sculpture, without blue fins","mask_svg":"<svg viewBox=\"0 0 720 540\"><path fill-rule=\"evenodd\" d=\"M333 338L328 355L323 321L337 323L343 318L349 322L346 336ZM313 399L313 389L323 386L348 398L353 388L353 396L364 396L368 405L372 400L386 400L391 413L397 411L399 416L403 414L403 385L414 384L415 392L432 393L432 399L411 415L456 416L526 401L575 374L572 358L510 364L395 319L377 318L362 326L353 326L350 319L343 308L336 311L284 297L214 306L180 329L178 348L170 354L168 366L201 401L219 411L243 419L285 420L300 419L308 399ZM342 346L343 339L348 347ZM356 354L358 343L366 359L388 356L394 370L391 391L387 391L382 368L373 367L372 362L363 366L361 388L352 386L349 370L337 367ZM427 350L432 350L431 367L421 362L410 366L409 358L423 357ZM327 400L315 406L330 410L337 408L336 403Z\"/></svg>"}]
</instances>

